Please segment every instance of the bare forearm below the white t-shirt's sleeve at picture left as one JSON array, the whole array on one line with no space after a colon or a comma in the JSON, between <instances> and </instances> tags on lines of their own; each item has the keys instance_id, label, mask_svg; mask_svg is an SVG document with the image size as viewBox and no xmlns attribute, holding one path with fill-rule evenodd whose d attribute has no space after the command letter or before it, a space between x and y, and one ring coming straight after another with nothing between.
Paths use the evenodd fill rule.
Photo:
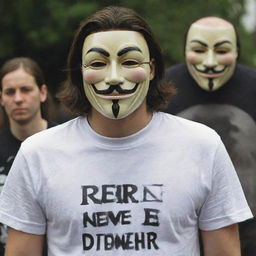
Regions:
<instances>
[{"instance_id":1,"label":"bare forearm below the white t-shirt's sleeve at picture left","mask_svg":"<svg viewBox=\"0 0 256 256\"><path fill-rule=\"evenodd\" d=\"M8 229L5 256L42 256L44 235L33 235Z\"/></svg>"}]
</instances>

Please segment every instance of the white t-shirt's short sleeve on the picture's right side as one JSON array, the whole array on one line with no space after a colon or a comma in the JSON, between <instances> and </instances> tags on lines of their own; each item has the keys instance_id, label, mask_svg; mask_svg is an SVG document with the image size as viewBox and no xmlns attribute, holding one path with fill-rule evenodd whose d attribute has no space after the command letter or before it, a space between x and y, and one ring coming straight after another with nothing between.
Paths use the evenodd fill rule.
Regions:
<instances>
[{"instance_id":1,"label":"white t-shirt's short sleeve on the picture's right side","mask_svg":"<svg viewBox=\"0 0 256 256\"><path fill-rule=\"evenodd\" d=\"M201 208L199 228L215 230L252 218L240 181L222 142L215 153L211 189Z\"/></svg>"}]
</instances>

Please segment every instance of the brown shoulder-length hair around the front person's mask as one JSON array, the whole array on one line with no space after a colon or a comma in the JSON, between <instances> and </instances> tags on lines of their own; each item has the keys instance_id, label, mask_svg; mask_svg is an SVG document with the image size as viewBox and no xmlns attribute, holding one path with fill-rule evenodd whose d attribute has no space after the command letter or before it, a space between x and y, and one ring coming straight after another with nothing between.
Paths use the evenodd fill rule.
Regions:
<instances>
[{"instance_id":1,"label":"brown shoulder-length hair around the front person's mask","mask_svg":"<svg viewBox=\"0 0 256 256\"><path fill-rule=\"evenodd\" d=\"M75 33L67 60L67 80L57 97L74 114L84 115L91 110L83 88L82 47L92 33L109 30L129 30L141 33L148 45L150 59L154 60L155 77L150 81L147 107L150 111L164 109L174 88L164 81L164 61L160 46L145 20L135 11L117 6L106 7L85 20Z\"/></svg>"}]
</instances>

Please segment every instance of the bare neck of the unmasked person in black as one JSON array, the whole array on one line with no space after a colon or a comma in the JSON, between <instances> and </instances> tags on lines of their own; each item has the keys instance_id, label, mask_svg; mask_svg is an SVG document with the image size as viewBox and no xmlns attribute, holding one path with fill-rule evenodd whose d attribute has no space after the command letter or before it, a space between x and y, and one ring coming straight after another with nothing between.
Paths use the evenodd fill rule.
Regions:
<instances>
[{"instance_id":1,"label":"bare neck of the unmasked person in black","mask_svg":"<svg viewBox=\"0 0 256 256\"><path fill-rule=\"evenodd\" d=\"M45 129L47 129L47 121L42 117L34 118L26 123L17 123L16 121L10 120L11 133L20 141Z\"/></svg>"}]
</instances>

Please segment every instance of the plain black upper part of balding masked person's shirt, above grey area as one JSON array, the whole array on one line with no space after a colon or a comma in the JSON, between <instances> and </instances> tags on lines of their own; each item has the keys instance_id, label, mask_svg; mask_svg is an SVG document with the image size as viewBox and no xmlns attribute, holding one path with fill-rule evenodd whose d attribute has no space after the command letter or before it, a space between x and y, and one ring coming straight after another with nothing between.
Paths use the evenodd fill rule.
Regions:
<instances>
[{"instance_id":1,"label":"plain black upper part of balding masked person's shirt, above grey area","mask_svg":"<svg viewBox=\"0 0 256 256\"><path fill-rule=\"evenodd\" d=\"M166 112L177 114L199 104L230 104L248 113L256 120L256 69L237 65L233 76L218 90L210 92L199 87L191 77L186 64L166 70L166 80L177 88Z\"/></svg>"}]
</instances>

